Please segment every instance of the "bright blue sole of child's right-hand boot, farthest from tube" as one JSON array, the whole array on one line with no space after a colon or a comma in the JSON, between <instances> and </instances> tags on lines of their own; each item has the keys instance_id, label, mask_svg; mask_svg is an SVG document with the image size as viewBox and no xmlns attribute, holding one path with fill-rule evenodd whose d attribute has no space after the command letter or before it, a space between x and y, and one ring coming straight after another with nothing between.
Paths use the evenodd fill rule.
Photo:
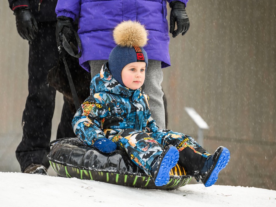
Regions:
<instances>
[{"instance_id":1,"label":"bright blue sole of child's right-hand boot, farthest from tube","mask_svg":"<svg viewBox=\"0 0 276 207\"><path fill-rule=\"evenodd\" d=\"M230 152L226 147L223 147L221 154L219 155L219 158L217 159L216 165L214 166L213 170L211 171L211 175L207 179L207 181L204 183L205 187L209 187L211 185L214 185L214 183L218 179L218 173L226 167L230 159ZM208 175L207 175L208 176Z\"/></svg>"}]
</instances>

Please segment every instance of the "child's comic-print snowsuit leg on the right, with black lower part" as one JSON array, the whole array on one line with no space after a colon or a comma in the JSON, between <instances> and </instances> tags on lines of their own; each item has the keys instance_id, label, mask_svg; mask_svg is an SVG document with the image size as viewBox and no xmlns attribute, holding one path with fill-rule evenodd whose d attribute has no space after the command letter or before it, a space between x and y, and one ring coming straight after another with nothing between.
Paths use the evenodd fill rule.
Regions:
<instances>
[{"instance_id":1,"label":"child's comic-print snowsuit leg on the right, with black lower part","mask_svg":"<svg viewBox=\"0 0 276 207\"><path fill-rule=\"evenodd\" d=\"M167 129L150 133L163 147L175 146L179 151L178 164L184 167L188 175L198 177L206 158L210 155L192 137Z\"/></svg>"}]
</instances>

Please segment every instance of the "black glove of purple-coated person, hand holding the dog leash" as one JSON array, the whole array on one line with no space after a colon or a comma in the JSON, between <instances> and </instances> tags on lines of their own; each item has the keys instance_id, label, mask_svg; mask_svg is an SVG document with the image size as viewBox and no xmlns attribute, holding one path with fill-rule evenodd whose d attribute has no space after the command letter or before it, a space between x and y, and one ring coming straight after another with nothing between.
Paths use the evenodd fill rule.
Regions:
<instances>
[{"instance_id":1,"label":"black glove of purple-coated person, hand holding the dog leash","mask_svg":"<svg viewBox=\"0 0 276 207\"><path fill-rule=\"evenodd\" d=\"M57 46L62 45L62 41L63 41L62 34L63 34L64 27L68 27L70 29L67 34L64 34L66 39L69 41L74 35L73 19L70 18L70 17L65 17L65 16L57 17L57 26L56 26L56 29L55 29L55 36L56 36L56 39L57 39Z\"/></svg>"}]
</instances>

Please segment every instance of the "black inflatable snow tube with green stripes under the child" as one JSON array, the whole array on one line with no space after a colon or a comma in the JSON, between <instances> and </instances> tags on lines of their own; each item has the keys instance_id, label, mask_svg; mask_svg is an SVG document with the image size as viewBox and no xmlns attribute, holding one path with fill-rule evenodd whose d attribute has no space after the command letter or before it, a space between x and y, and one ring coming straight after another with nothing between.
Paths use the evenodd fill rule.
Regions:
<instances>
[{"instance_id":1,"label":"black inflatable snow tube with green stripes under the child","mask_svg":"<svg viewBox=\"0 0 276 207\"><path fill-rule=\"evenodd\" d=\"M167 185L156 186L152 178L136 166L127 153L116 150L104 154L87 147L77 138L64 138L55 141L47 155L53 170L61 177L76 177L148 189L177 189L188 184L191 176L186 175L178 164L170 171Z\"/></svg>"}]
</instances>

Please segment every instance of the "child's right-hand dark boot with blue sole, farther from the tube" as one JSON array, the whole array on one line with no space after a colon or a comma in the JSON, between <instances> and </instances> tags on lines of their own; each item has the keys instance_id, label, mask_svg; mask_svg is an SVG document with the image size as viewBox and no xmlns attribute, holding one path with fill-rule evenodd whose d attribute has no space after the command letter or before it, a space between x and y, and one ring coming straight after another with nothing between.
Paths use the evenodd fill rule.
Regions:
<instances>
[{"instance_id":1,"label":"child's right-hand dark boot with blue sole, farther from the tube","mask_svg":"<svg viewBox=\"0 0 276 207\"><path fill-rule=\"evenodd\" d=\"M200 172L200 180L209 187L218 179L218 173L226 167L230 159L230 152L226 147L218 147L213 155L208 156Z\"/></svg>"}]
</instances>

